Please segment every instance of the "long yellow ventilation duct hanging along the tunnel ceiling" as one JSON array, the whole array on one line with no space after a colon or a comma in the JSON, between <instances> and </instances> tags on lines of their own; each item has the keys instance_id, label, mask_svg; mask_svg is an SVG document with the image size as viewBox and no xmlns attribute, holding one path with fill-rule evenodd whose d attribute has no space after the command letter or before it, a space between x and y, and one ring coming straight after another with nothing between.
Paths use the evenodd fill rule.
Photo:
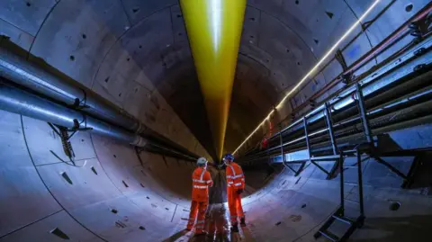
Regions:
<instances>
[{"instance_id":1,"label":"long yellow ventilation duct hanging along the tunnel ceiling","mask_svg":"<svg viewBox=\"0 0 432 242\"><path fill-rule=\"evenodd\" d=\"M246 0L180 0L217 155L222 156Z\"/></svg>"}]
</instances>

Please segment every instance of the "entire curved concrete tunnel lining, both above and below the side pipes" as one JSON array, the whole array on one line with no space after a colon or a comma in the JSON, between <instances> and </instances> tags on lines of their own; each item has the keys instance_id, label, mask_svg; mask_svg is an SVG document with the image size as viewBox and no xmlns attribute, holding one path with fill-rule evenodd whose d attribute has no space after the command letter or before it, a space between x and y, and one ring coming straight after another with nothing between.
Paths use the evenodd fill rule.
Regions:
<instances>
[{"instance_id":1,"label":"entire curved concrete tunnel lining, both above and below the side pipes","mask_svg":"<svg viewBox=\"0 0 432 242\"><path fill-rule=\"evenodd\" d=\"M370 2L322 1L313 9L327 22L316 23L304 18L312 2L248 1L238 60L243 71L236 76L228 135L241 141L255 128L254 121L260 121L272 104L259 100L280 100L329 47L331 38L340 35L341 26L354 21ZM408 12L405 7L411 2ZM403 18L367 32L376 37L372 45L426 3L392 4L391 13ZM338 21L329 22L325 13L329 8ZM327 31L329 26L333 31ZM203 148L205 142L196 137L197 131L184 121L185 114L179 114L184 105L178 100L192 106L199 101L181 91L193 78L178 83L175 76L170 77L171 71L182 72L193 65L177 1L2 1L0 32L151 129L196 154L211 156ZM320 44L314 35L320 36ZM364 35L353 47L356 51L350 52L350 62L371 48ZM294 48L282 56L287 47ZM321 79L331 79L339 68L330 65L328 76L322 74ZM256 76L252 69L266 75L248 83ZM325 83L307 87L298 100ZM290 112L287 105L283 113ZM0 117L0 241L64 241L54 235L56 228L73 241L161 241L184 229L192 164L145 152L139 159L127 145L80 132L72 139L76 166L70 166L58 160L66 157L46 123L2 111ZM396 163L406 170L410 160ZM369 177L365 179L368 219L353 239L422 241L430 228L430 198L424 191L402 191L401 180L374 162L364 166ZM244 199L247 241L314 241L314 229L338 207L338 180L325 180L313 166L301 177L279 169L266 175L247 172L247 183L252 184L247 185ZM354 201L356 186L349 185L347 192ZM389 210L393 202L401 202L399 211Z\"/></svg>"}]
</instances>

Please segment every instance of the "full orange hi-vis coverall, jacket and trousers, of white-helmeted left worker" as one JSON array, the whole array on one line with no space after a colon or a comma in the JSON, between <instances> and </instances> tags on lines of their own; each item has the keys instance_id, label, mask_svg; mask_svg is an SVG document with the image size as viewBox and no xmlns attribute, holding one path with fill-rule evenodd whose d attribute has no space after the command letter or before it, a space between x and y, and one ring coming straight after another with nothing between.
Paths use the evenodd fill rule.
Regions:
<instances>
[{"instance_id":1,"label":"full orange hi-vis coverall, jacket and trousers, of white-helmeted left worker","mask_svg":"<svg viewBox=\"0 0 432 242\"><path fill-rule=\"evenodd\" d=\"M204 229L205 212L209 206L209 186L213 185L210 173L202 168L197 167L192 174L192 204L187 229L192 230L193 224L198 214L196 221L195 232L201 234Z\"/></svg>"}]
</instances>

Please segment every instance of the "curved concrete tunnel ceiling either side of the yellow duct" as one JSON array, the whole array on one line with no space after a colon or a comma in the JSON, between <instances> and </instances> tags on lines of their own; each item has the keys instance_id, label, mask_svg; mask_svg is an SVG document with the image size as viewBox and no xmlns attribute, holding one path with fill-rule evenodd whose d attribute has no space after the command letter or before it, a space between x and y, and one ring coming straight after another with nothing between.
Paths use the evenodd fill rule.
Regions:
<instances>
[{"instance_id":1,"label":"curved concrete tunnel ceiling either side of the yellow duct","mask_svg":"<svg viewBox=\"0 0 432 242\"><path fill-rule=\"evenodd\" d=\"M237 148L286 90L372 2L247 1L226 150ZM406 6L410 1L382 1L372 15L390 5L400 17L387 14L373 30L358 36L344 50L348 65L394 29L389 26L399 26L427 3L414 1L409 11ZM151 115L151 109L158 109L161 102L154 94L157 90L215 157L178 1L2 1L0 7L6 9L0 16L3 34L140 119L170 119L168 114ZM329 65L292 103L305 100L340 70L338 64ZM146 106L148 99L152 107ZM286 102L284 113L291 109L290 102Z\"/></svg>"}]
</instances>

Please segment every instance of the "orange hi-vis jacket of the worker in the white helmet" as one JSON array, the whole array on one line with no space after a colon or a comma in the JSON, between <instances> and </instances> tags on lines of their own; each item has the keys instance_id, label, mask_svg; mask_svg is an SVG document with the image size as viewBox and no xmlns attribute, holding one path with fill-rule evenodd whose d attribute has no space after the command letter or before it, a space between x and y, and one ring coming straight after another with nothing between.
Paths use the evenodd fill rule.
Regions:
<instances>
[{"instance_id":1,"label":"orange hi-vis jacket of the worker in the white helmet","mask_svg":"<svg viewBox=\"0 0 432 242\"><path fill-rule=\"evenodd\" d=\"M208 202L209 186L213 185L210 173L202 167L197 167L192 174L192 200Z\"/></svg>"}]
</instances>

